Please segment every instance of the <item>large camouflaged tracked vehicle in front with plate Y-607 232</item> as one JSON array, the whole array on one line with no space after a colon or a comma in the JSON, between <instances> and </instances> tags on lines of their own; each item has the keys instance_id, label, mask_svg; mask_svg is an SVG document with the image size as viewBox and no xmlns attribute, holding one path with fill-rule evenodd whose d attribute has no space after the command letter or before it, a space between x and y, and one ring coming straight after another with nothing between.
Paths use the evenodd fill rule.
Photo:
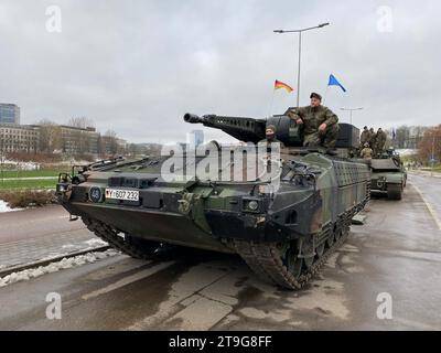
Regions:
<instances>
[{"instance_id":1,"label":"large camouflaged tracked vehicle in front with plate Y-607 232","mask_svg":"<svg viewBox=\"0 0 441 353\"><path fill-rule=\"evenodd\" d=\"M349 157L358 129L340 125L336 151L326 151L302 147L302 126L286 115L186 114L184 120L243 142L168 147L160 157L76 167L60 175L60 203L132 257L152 257L162 244L236 253L265 280L302 288L369 200L369 169ZM262 153L254 153L269 125L284 147L263 143ZM216 167L207 171L211 162Z\"/></svg>"}]
</instances>

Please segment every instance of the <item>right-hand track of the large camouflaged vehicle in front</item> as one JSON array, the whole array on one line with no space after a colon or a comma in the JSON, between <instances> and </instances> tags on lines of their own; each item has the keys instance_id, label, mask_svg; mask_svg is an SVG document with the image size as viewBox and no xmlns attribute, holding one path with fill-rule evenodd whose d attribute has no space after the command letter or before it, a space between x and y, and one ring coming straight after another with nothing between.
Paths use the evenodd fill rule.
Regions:
<instances>
[{"instance_id":1,"label":"right-hand track of the large camouflaged vehicle in front","mask_svg":"<svg viewBox=\"0 0 441 353\"><path fill-rule=\"evenodd\" d=\"M367 200L363 203L363 206ZM247 265L265 281L277 285L291 290L303 288L313 278L326 263L329 257L338 249L349 235L349 226L352 217L361 211L362 207L352 210L343 217L341 228L332 232L343 231L342 236L329 247L323 255L318 258L308 270L304 270L298 278L289 272L280 257L280 252L277 243L258 243L247 240L234 240L234 248L247 263ZM319 238L322 234L319 235Z\"/></svg>"}]
</instances>

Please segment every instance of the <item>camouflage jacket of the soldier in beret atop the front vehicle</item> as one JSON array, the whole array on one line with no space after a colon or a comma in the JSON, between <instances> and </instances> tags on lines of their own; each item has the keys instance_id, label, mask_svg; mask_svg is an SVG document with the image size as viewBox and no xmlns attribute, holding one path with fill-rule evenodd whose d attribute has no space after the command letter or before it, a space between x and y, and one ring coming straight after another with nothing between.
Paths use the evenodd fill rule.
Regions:
<instances>
[{"instance_id":1,"label":"camouflage jacket of the soldier in beret atop the front vehicle","mask_svg":"<svg viewBox=\"0 0 441 353\"><path fill-rule=\"evenodd\" d=\"M303 120L305 136L315 133L323 122L327 126L338 122L338 117L324 106L291 108L288 111L288 116L294 120L299 118Z\"/></svg>"}]
</instances>

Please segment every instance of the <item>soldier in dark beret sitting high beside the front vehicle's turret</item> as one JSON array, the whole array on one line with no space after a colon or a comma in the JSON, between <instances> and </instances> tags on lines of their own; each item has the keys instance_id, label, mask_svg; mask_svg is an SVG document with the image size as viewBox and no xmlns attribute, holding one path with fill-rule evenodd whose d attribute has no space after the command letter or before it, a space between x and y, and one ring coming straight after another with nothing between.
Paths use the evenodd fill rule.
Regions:
<instances>
[{"instance_id":1,"label":"soldier in dark beret sitting high beside the front vehicle's turret","mask_svg":"<svg viewBox=\"0 0 441 353\"><path fill-rule=\"evenodd\" d=\"M291 108L288 116L299 125L304 125L303 146L335 147L338 137L338 117L331 109L322 106L322 96L312 93L311 105Z\"/></svg>"}]
</instances>

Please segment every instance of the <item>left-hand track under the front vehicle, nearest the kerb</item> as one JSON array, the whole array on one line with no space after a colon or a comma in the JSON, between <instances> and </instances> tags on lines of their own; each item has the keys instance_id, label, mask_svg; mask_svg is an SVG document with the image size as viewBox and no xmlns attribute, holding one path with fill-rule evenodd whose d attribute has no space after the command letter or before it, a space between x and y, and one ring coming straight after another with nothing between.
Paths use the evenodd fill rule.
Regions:
<instances>
[{"instance_id":1,"label":"left-hand track under the front vehicle, nearest the kerb","mask_svg":"<svg viewBox=\"0 0 441 353\"><path fill-rule=\"evenodd\" d=\"M132 245L126 236L119 236L119 232L115 231L105 223L86 217L83 217L82 220L90 232L122 254L139 259L152 259L154 257L154 250L158 248L158 246L152 247L151 252L146 252L140 249L138 246Z\"/></svg>"}]
</instances>

